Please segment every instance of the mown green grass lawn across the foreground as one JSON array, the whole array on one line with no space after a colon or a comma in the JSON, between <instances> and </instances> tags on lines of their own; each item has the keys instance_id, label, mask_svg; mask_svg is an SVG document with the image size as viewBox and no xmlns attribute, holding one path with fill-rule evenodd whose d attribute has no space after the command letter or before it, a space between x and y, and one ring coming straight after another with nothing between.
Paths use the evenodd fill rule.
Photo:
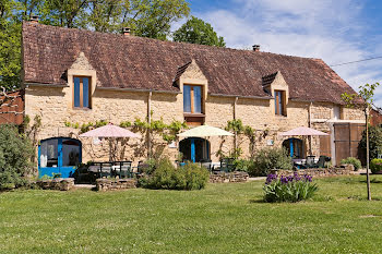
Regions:
<instances>
[{"instance_id":1,"label":"mown green grass lawn across the foreground","mask_svg":"<svg viewBox=\"0 0 382 254\"><path fill-rule=\"evenodd\" d=\"M382 177L318 180L313 201L262 203L262 181L203 191L0 194L1 253L382 253Z\"/></svg>"}]
</instances>

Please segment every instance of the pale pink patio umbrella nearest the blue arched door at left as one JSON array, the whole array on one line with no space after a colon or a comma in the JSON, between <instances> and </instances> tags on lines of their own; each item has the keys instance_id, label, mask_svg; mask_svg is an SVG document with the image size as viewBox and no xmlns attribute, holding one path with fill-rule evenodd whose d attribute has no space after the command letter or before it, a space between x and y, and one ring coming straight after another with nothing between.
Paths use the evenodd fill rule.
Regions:
<instances>
[{"instance_id":1,"label":"pale pink patio umbrella nearest the blue arched door at left","mask_svg":"<svg viewBox=\"0 0 382 254\"><path fill-rule=\"evenodd\" d=\"M94 129L92 131L85 132L80 135L80 137L106 137L109 140L110 146L110 161L114 160L115 156L112 156L112 150L117 150L117 147L112 149L111 138L120 138L120 137L132 137L132 138L141 138L140 134L135 134L129 130L126 130L120 126L112 125L111 123ZM117 140L118 144L118 140ZM117 145L116 145L117 146Z\"/></svg>"}]
</instances>

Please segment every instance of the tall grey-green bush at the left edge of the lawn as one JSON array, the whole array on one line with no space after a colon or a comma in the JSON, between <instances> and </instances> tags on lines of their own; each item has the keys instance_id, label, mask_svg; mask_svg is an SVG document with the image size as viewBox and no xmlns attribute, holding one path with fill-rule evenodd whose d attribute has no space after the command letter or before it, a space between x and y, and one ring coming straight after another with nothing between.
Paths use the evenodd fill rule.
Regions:
<instances>
[{"instance_id":1,"label":"tall grey-green bush at the left edge of the lawn","mask_svg":"<svg viewBox=\"0 0 382 254\"><path fill-rule=\"evenodd\" d=\"M13 125L0 125L0 190L26 184L25 174L32 169L33 147Z\"/></svg>"}]
</instances>

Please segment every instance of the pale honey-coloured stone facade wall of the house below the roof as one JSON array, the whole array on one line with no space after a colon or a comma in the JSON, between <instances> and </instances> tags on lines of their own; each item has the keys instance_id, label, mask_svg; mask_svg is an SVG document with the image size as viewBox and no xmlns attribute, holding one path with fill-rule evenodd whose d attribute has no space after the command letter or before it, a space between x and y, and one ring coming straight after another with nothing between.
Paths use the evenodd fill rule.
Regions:
<instances>
[{"instance_id":1,"label":"pale honey-coloured stone facade wall of the house below the roof","mask_svg":"<svg viewBox=\"0 0 382 254\"><path fill-rule=\"evenodd\" d=\"M95 89L92 97L92 109L79 110L69 107L71 101L70 87L43 87L29 86L26 88L25 110L31 119L41 116L41 130L38 140L57 136L79 138L79 129L65 126L65 122L79 123L96 122L97 120L110 121L119 124L121 121L133 122L136 118L144 120L148 111L148 92L128 92L112 89ZM254 149L261 147L279 147L287 137L278 134L297 126L309 125L310 102L289 100L287 116L275 116L272 105L273 99L239 98L236 106L236 118L243 124L252 126L256 131ZM205 123L224 128L227 121L234 119L235 97L220 97L208 95L205 101ZM326 120L333 118L335 105L330 102L314 102L311 106L311 117L323 119L314 122L312 128L329 131ZM153 93L151 99L153 120L163 119L165 123L174 120L183 121L182 94ZM363 119L359 110L342 108L343 119ZM93 144L92 138L79 138L83 144L83 162L88 160L108 160L109 144ZM218 160L218 152L228 155L234 147L234 137L211 137L211 159ZM176 159L178 148L170 148L160 136L156 136L159 152ZM238 138L242 149L242 157L251 155L250 143L246 136ZM306 141L308 147L308 141ZM135 166L139 160L144 160L147 155L145 135L141 140L123 141L118 152L120 159L132 160ZM312 152L319 155L320 138L312 138Z\"/></svg>"}]
</instances>

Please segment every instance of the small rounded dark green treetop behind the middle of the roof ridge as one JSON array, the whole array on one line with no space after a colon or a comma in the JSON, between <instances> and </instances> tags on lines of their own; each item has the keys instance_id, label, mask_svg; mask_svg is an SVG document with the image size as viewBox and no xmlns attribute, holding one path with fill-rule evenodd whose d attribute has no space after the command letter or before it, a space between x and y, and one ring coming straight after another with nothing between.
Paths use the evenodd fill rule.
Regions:
<instances>
[{"instance_id":1,"label":"small rounded dark green treetop behind the middle of the roof ridge","mask_svg":"<svg viewBox=\"0 0 382 254\"><path fill-rule=\"evenodd\" d=\"M211 24L191 16L179 29L174 33L175 41L226 47L222 36L217 36Z\"/></svg>"}]
</instances>

